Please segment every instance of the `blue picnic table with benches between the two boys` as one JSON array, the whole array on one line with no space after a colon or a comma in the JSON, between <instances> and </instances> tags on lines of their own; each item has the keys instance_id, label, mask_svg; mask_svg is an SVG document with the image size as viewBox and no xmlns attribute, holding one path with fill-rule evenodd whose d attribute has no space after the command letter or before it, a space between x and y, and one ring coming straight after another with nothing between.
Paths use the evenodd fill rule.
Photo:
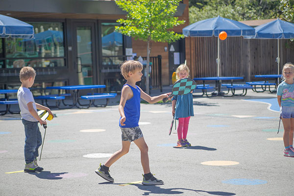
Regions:
<instances>
[{"instance_id":1,"label":"blue picnic table with benches between the two boys","mask_svg":"<svg viewBox=\"0 0 294 196\"><path fill-rule=\"evenodd\" d=\"M49 86L46 87L46 90L48 89L57 89L58 90L58 95L45 95L45 96L38 96L35 97L35 99L41 99L41 100L46 100L46 104L48 104L49 99L55 99L56 100L56 107L62 109L60 107L60 103L62 103L67 106L67 108L72 108L73 106L76 106L78 108L89 108L91 104L93 104L96 107L105 107L108 104L109 98L114 98L116 97L116 93L94 93L95 89L100 89L100 88L105 88L105 85L73 85L73 86ZM91 93L88 93L86 96L80 96L79 95L79 90L85 90L85 89L91 89ZM73 91L73 95L71 94L61 94L61 90L68 90L68 91ZM65 103L65 98L69 97L72 99L71 104ZM102 99L106 98L106 104L104 105L96 105L95 104L95 99ZM82 104L80 102L80 99L87 99L89 100L89 104ZM54 107L54 106L49 106L49 107Z\"/></svg>"}]
</instances>

